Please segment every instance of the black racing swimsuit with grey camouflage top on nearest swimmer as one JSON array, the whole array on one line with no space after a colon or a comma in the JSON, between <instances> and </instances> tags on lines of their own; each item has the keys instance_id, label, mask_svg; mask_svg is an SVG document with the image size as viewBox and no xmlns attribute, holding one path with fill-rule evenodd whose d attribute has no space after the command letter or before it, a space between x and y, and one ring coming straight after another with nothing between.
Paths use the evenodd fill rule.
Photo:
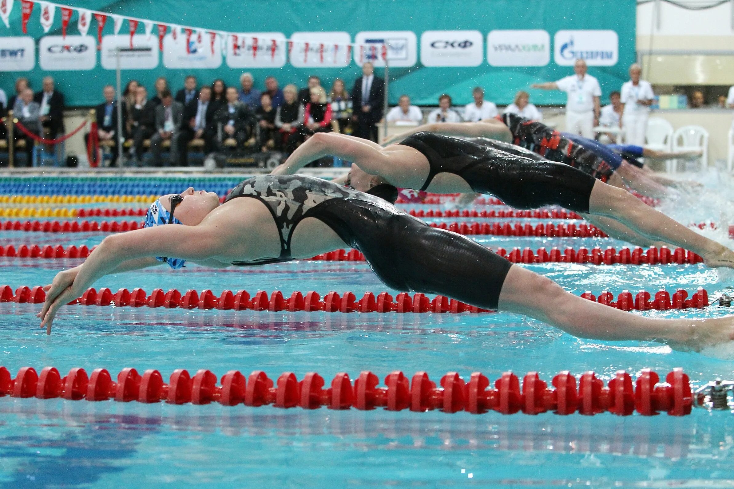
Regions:
<instances>
[{"instance_id":1,"label":"black racing swimsuit with grey camouflage top on nearest swimmer","mask_svg":"<svg viewBox=\"0 0 734 489\"><path fill-rule=\"evenodd\" d=\"M476 241L429 227L376 196L304 175L266 175L244 180L232 199L263 202L280 232L280 256L232 265L264 265L291 257L294 229L313 217L361 251L374 273L395 290L445 295L497 309L512 264Z\"/></svg>"}]
</instances>

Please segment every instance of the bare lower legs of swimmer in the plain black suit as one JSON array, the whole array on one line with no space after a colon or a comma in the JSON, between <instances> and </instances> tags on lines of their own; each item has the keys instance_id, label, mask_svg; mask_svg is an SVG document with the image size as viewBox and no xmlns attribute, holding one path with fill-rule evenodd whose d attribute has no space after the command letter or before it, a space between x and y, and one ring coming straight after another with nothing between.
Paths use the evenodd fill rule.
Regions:
<instances>
[{"instance_id":1,"label":"bare lower legs of swimmer in the plain black suit","mask_svg":"<svg viewBox=\"0 0 734 489\"><path fill-rule=\"evenodd\" d=\"M645 205L629 192L599 180L592 189L589 213L614 218L650 240L662 240L694 251L710 267L734 268L734 251Z\"/></svg>"}]
</instances>

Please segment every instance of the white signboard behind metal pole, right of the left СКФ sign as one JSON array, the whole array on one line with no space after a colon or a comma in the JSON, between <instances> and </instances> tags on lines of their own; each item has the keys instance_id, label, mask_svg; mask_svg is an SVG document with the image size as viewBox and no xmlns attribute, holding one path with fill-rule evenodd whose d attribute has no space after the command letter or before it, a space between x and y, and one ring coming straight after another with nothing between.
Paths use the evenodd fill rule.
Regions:
<instances>
[{"instance_id":1,"label":"white signboard behind metal pole, right of the left \u0421\u041a\u0424 sign","mask_svg":"<svg viewBox=\"0 0 734 489\"><path fill-rule=\"evenodd\" d=\"M100 64L105 70L117 69L117 51L120 51L121 70L152 70L158 66L158 39L145 34L133 36L130 47L130 34L102 37Z\"/></svg>"}]
</instances>

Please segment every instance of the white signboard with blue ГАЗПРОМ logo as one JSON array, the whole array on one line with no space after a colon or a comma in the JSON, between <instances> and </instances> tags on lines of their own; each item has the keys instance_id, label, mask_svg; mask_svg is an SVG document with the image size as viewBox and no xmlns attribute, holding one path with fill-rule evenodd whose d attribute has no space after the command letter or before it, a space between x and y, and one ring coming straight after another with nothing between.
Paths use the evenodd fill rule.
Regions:
<instances>
[{"instance_id":1,"label":"white signboard with blue \u0413\u0410\u0417\u041f\u0420\u041e\u041c logo","mask_svg":"<svg viewBox=\"0 0 734 489\"><path fill-rule=\"evenodd\" d=\"M619 37L614 31L559 31L553 45L556 65L573 66L576 59L584 59L589 66L614 66L619 60Z\"/></svg>"}]
</instances>

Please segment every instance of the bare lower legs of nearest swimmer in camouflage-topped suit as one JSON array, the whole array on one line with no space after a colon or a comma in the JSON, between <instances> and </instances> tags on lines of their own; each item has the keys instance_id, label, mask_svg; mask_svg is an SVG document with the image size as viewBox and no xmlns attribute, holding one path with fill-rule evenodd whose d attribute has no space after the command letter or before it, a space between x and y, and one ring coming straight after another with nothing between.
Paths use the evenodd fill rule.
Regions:
<instances>
[{"instance_id":1,"label":"bare lower legs of nearest swimmer in camouflage-topped suit","mask_svg":"<svg viewBox=\"0 0 734 489\"><path fill-rule=\"evenodd\" d=\"M653 319L567 293L551 279L518 265L509 269L499 309L528 315L575 337L666 343L677 350L700 350L734 339L734 316L715 319Z\"/></svg>"}]
</instances>

